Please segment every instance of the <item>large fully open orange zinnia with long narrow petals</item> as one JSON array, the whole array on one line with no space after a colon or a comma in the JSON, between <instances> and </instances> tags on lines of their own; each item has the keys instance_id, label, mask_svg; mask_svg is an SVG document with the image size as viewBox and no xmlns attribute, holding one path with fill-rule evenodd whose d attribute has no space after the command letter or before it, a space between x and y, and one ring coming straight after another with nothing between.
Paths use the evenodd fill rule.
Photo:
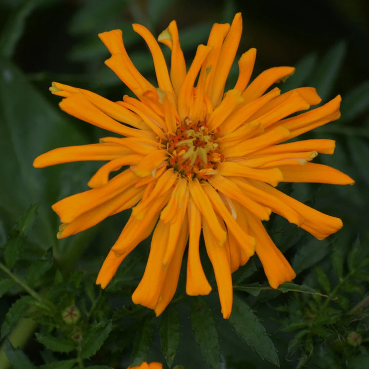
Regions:
<instances>
[{"instance_id":1,"label":"large fully open orange zinnia with long narrow petals","mask_svg":"<svg viewBox=\"0 0 369 369\"><path fill-rule=\"evenodd\" d=\"M105 288L125 257L154 231L146 270L132 300L159 315L176 291L187 241L186 292L206 295L211 291L199 257L202 228L222 314L228 318L231 273L254 252L273 288L295 277L262 225L272 211L318 239L342 227L339 218L322 214L275 188L281 181L353 183L338 170L311 162L318 153L332 154L333 140L281 144L338 119L341 97L286 118L321 99L309 87L283 94L274 88L265 93L290 76L294 72L291 67L268 69L249 84L255 49L242 54L237 83L224 93L242 32L239 13L232 25L214 24L208 44L198 46L188 71L175 21L158 37L172 52L170 73L148 29L138 24L133 29L151 51L158 88L137 71L119 30L99 34L112 54L105 63L137 98L125 95L113 103L59 83L50 88L53 94L65 97L59 104L62 110L118 135L101 138L99 144L55 149L35 159L38 168L77 160L108 161L88 182L91 190L53 205L63 223L57 236L70 236L132 208L96 283ZM111 172L126 166L109 179Z\"/></svg>"}]
</instances>

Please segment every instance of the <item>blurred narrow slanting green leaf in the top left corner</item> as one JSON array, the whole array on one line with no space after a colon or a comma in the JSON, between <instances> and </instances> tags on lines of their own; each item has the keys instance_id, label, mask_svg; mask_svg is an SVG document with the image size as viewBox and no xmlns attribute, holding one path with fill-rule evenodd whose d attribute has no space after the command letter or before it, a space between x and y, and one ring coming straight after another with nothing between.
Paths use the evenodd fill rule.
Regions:
<instances>
[{"instance_id":1,"label":"blurred narrow slanting green leaf in the top left corner","mask_svg":"<svg viewBox=\"0 0 369 369\"><path fill-rule=\"evenodd\" d=\"M8 19L2 29L0 38L0 54L12 57L19 38L22 36L28 15L37 4L36 0L25 1L22 6L16 8L14 14Z\"/></svg>"}]
</instances>

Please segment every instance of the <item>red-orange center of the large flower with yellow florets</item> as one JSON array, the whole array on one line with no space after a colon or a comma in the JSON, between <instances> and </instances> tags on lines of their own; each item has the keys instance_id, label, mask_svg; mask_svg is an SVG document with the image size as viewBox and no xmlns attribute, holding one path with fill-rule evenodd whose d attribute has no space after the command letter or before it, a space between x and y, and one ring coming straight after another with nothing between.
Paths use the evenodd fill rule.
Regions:
<instances>
[{"instance_id":1,"label":"red-orange center of the large flower with yellow florets","mask_svg":"<svg viewBox=\"0 0 369 369\"><path fill-rule=\"evenodd\" d=\"M215 174L224 160L218 142L219 130L210 131L206 121L183 119L173 135L163 142L169 154L169 165L182 177L207 179Z\"/></svg>"}]
</instances>

